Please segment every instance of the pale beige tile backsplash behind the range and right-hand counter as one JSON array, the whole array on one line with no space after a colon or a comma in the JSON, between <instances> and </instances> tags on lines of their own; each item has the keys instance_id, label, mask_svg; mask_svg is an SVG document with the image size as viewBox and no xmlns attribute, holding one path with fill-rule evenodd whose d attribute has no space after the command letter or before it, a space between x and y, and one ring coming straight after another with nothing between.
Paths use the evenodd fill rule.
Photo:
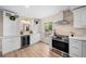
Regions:
<instances>
[{"instance_id":1,"label":"pale beige tile backsplash behind the range and right-hand counter","mask_svg":"<svg viewBox=\"0 0 86 64\"><path fill-rule=\"evenodd\" d=\"M86 36L86 28L74 28L70 25L60 25L56 26L54 28L58 35L71 36L71 33L74 33L74 36Z\"/></svg>"}]
</instances>

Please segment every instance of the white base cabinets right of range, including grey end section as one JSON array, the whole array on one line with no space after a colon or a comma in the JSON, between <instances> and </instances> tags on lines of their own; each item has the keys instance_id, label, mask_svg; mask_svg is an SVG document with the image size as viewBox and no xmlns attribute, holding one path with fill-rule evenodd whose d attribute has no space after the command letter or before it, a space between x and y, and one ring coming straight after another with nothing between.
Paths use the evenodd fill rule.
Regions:
<instances>
[{"instance_id":1,"label":"white base cabinets right of range, including grey end section","mask_svg":"<svg viewBox=\"0 0 86 64\"><path fill-rule=\"evenodd\" d=\"M70 38L69 53L72 57L86 57L86 40Z\"/></svg>"}]
</instances>

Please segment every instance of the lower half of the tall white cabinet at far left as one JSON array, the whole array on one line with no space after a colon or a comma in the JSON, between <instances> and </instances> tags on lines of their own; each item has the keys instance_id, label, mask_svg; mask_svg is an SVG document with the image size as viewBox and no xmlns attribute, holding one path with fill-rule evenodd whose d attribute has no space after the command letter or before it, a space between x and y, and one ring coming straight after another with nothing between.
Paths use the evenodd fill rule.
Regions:
<instances>
[{"instance_id":1,"label":"lower half of the tall white cabinet at far left","mask_svg":"<svg viewBox=\"0 0 86 64\"><path fill-rule=\"evenodd\" d=\"M2 54L15 51L21 48L20 37L8 37L2 39Z\"/></svg>"}]
</instances>

